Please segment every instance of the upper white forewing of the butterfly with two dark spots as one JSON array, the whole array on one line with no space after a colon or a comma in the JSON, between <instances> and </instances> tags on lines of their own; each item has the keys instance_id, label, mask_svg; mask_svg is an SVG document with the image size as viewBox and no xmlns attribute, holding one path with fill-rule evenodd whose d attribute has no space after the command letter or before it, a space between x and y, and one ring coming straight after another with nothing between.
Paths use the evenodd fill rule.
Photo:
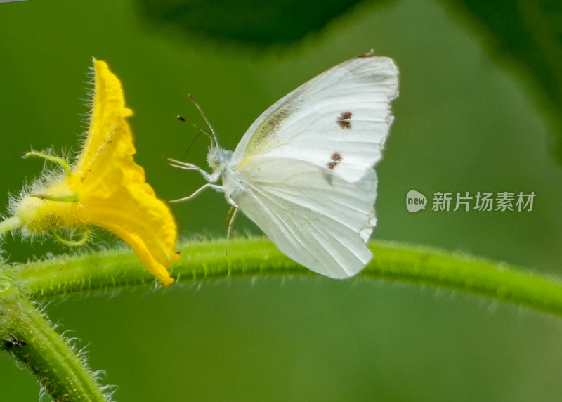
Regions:
<instances>
[{"instance_id":1,"label":"upper white forewing of the butterfly with two dark spots","mask_svg":"<svg viewBox=\"0 0 562 402\"><path fill-rule=\"evenodd\" d=\"M242 137L233 162L291 155L358 181L381 158L396 96L393 60L372 54L348 60L263 112Z\"/></svg>"}]
</instances>

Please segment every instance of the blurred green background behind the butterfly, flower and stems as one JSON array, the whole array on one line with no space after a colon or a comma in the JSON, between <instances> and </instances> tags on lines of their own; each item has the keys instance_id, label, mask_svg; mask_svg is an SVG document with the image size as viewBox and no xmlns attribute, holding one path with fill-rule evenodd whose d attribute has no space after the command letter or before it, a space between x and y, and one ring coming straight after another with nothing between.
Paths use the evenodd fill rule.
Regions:
<instances>
[{"instance_id":1,"label":"blurred green background behind the butterfly, flower and stems","mask_svg":"<svg viewBox=\"0 0 562 402\"><path fill-rule=\"evenodd\" d=\"M277 98L373 48L400 68L396 120L377 167L373 237L562 275L562 171L555 150L562 126L559 76L552 73L562 71L553 68L562 60L561 32L548 29L561 21L551 6L556 2L518 10L526 22L551 22L535 42L524 30L510 31L507 22L517 21L510 1L490 3L497 8L481 14L489 18L478 18L484 4L478 1L352 1L327 8L292 2L282 13L275 6L287 3L174 3L0 4L1 189L17 194L39 174L40 161L20 158L31 147L79 150L85 130L79 114L86 112L80 99L92 57L106 60L122 79L135 112L136 160L157 193L171 199L202 184L199 175L174 171L162 159L181 157L197 135L177 114L202 124L188 92L222 145L233 149ZM523 53L528 60L518 57ZM186 160L203 166L207 145L197 140ZM411 189L428 197L436 191L534 191L537 197L532 212L410 214L405 194ZM8 195L0 204L6 210ZM173 209L185 238L226 233L228 206L220 194L209 191ZM236 232L259 233L247 219L237 221ZM115 244L104 239L91 247ZM8 261L68 252L11 236L2 248ZM104 382L117 384L117 401L562 398L561 318L430 287L361 278L224 280L70 297L46 312L60 331L79 339L77 347L86 347L91 368L105 370ZM0 355L0 390L1 401L39 396L34 378L8 354Z\"/></svg>"}]
</instances>

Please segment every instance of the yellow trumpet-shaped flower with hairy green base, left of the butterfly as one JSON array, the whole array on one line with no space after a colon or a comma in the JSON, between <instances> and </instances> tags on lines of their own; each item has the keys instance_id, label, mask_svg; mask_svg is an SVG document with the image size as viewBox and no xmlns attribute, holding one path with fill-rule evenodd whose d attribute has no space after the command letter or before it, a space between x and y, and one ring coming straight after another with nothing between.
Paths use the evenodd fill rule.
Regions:
<instances>
[{"instance_id":1,"label":"yellow trumpet-shaped flower with hairy green base, left of the butterfly","mask_svg":"<svg viewBox=\"0 0 562 402\"><path fill-rule=\"evenodd\" d=\"M72 167L57 157L27 154L59 162L65 174L23 197L13 207L15 219L28 233L105 228L127 242L148 271L167 285L174 280L166 266L178 258L174 217L133 161L133 136L126 122L133 112L125 106L119 79L100 60L94 61L94 72L84 149Z\"/></svg>"}]
</instances>

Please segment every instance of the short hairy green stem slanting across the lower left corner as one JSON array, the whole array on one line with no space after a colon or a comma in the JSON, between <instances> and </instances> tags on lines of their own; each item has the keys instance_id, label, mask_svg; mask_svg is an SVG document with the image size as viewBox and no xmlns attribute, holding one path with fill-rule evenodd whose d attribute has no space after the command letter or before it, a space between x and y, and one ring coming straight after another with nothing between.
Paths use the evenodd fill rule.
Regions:
<instances>
[{"instance_id":1,"label":"short hairy green stem slanting across the lower left corner","mask_svg":"<svg viewBox=\"0 0 562 402\"><path fill-rule=\"evenodd\" d=\"M106 401L82 359L9 280L0 281L0 348L24 363L55 401Z\"/></svg>"}]
</instances>

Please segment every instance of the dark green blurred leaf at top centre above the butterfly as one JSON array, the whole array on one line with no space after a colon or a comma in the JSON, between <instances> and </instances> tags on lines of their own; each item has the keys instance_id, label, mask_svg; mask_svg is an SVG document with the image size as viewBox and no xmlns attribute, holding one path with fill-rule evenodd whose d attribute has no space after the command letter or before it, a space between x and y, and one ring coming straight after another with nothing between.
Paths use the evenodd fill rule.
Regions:
<instances>
[{"instance_id":1,"label":"dark green blurred leaf at top centre above the butterfly","mask_svg":"<svg viewBox=\"0 0 562 402\"><path fill-rule=\"evenodd\" d=\"M289 44L325 27L360 0L139 0L141 12L187 34L252 46Z\"/></svg>"}]
</instances>

